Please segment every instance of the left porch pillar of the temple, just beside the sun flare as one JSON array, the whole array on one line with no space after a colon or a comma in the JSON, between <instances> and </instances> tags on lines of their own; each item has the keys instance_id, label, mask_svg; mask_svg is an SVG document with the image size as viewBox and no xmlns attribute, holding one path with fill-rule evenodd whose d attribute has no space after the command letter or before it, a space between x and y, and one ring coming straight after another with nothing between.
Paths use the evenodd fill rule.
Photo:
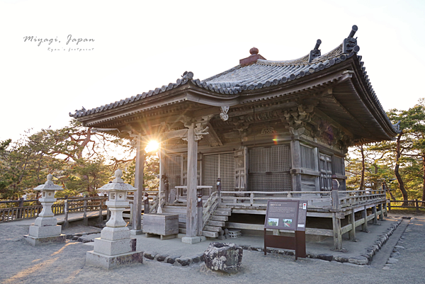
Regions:
<instances>
[{"instance_id":1,"label":"left porch pillar of the temple, just beside the sun flare","mask_svg":"<svg viewBox=\"0 0 425 284\"><path fill-rule=\"evenodd\" d=\"M136 168L135 168L135 191L133 200L132 229L136 234L142 234L142 206L143 206L143 168L145 166L145 145L140 136L137 136L136 144ZM146 213L146 212L145 212Z\"/></svg>"}]
</instances>

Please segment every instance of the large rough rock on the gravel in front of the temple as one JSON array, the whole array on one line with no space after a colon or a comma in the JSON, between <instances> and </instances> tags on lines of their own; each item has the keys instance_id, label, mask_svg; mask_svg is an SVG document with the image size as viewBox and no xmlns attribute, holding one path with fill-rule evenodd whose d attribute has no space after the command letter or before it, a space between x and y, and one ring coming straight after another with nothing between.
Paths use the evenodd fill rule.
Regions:
<instances>
[{"instance_id":1,"label":"large rough rock on the gravel in front of the temple","mask_svg":"<svg viewBox=\"0 0 425 284\"><path fill-rule=\"evenodd\" d=\"M212 271L235 273L242 263L243 249L236 244L212 242L203 254L205 266Z\"/></svg>"}]
</instances>

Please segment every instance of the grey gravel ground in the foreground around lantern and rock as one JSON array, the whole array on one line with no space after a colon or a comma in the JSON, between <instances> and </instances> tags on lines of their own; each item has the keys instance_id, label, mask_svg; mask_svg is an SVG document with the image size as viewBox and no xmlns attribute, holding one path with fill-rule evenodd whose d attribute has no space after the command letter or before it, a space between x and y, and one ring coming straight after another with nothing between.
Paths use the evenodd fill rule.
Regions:
<instances>
[{"instance_id":1,"label":"grey gravel ground in the foreground around lantern and rock","mask_svg":"<svg viewBox=\"0 0 425 284\"><path fill-rule=\"evenodd\" d=\"M64 234L96 231L72 227ZM410 220L384 268L298 259L244 250L242 268L233 275L209 271L203 263L171 266L144 259L140 265L111 271L85 266L80 242L33 247L23 235L28 226L0 225L0 283L425 283L425 217Z\"/></svg>"}]
</instances>

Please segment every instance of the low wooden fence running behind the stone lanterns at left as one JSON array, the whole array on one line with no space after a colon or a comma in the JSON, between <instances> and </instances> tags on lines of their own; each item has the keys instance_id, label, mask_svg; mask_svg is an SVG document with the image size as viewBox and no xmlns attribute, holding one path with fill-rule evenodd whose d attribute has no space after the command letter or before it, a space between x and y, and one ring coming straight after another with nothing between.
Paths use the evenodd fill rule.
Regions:
<instances>
[{"instance_id":1,"label":"low wooden fence running behind the stone lanterns at left","mask_svg":"<svg viewBox=\"0 0 425 284\"><path fill-rule=\"evenodd\" d=\"M86 216L87 211L101 212L102 209L106 210L105 201L107 197L65 197L57 198L57 201L52 205L53 214L65 214L65 222L69 212L84 212ZM42 205L38 199L33 200L8 200L0 201L1 204L6 204L7 208L0 208L0 222L10 222L13 220L22 220L38 217L42 210ZM15 206L11 206L15 205Z\"/></svg>"}]
</instances>

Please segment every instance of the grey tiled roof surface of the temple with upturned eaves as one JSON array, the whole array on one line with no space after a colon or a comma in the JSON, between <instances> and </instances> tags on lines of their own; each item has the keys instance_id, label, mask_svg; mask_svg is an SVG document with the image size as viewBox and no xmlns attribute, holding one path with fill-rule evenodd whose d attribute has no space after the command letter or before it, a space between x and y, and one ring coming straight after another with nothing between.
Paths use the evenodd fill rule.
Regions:
<instances>
[{"instance_id":1,"label":"grey tiled roof surface of the temple with upturned eaves","mask_svg":"<svg viewBox=\"0 0 425 284\"><path fill-rule=\"evenodd\" d=\"M69 116L73 118L80 118L86 115L99 113L103 110L118 108L119 106L128 105L129 103L140 101L150 96L155 96L159 93L178 88L181 85L187 84L189 81L191 81L196 86L199 86L200 88L208 89L210 91L222 93L225 95L234 95L237 93L243 93L244 91L267 88L269 86L276 86L279 84L287 84L288 81L297 80L303 76L309 76L310 74L321 72L322 70L327 69L334 64L339 64L340 62L343 62L347 58L353 56L358 59L358 63L361 66L365 82L368 86L375 106L380 109L381 115L386 118L387 123L392 125L390 119L385 113L385 110L382 108L378 97L375 95L375 91L373 91L372 85L368 79L368 75L366 74L367 72L365 72L365 67L363 67L361 56L358 56L354 51L348 54L344 54L342 45L339 45L334 50L327 52L325 55L315 57L310 63L309 55L287 61L258 59L253 64L239 64L232 69L229 69L215 76L211 76L210 78L204 79L202 81L200 79L193 79L193 72L185 72L181 79L177 79L176 83L169 83L168 85L164 85L148 92L143 92L137 96L125 98L121 101L115 101L115 103L110 103L98 108L92 108L90 110L77 110L74 114L69 113Z\"/></svg>"}]
</instances>

